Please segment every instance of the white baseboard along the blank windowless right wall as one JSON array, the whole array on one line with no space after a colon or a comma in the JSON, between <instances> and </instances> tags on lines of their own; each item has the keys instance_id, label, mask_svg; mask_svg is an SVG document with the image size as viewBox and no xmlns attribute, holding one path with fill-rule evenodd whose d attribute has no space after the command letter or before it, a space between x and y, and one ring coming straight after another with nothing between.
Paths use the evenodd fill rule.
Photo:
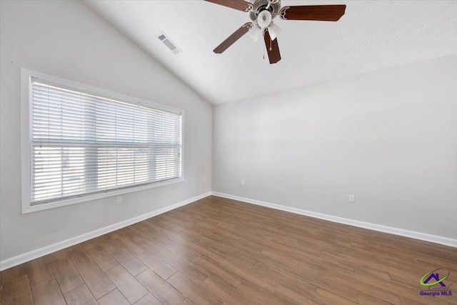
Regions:
<instances>
[{"instance_id":1,"label":"white baseboard along the blank windowless right wall","mask_svg":"<svg viewBox=\"0 0 457 305\"><path fill-rule=\"evenodd\" d=\"M296 209L296 208L291 208L289 206L281 206L279 204L271 204L269 202L265 201L259 201L255 199L248 199L248 198L243 198L239 196L233 196L229 194L223 194L223 193L218 193L216 191L213 191L212 194L214 196L219 196L227 199L233 199L237 201L243 201L248 204L256 204L258 206L266 206L271 209L277 209L281 211L287 211L291 212L294 214L300 214L300 215L305 215L305 216L310 216L313 218L318 218L318 219L323 219L323 220L328 220L328 221L333 221L337 222L339 224L348 224L349 226L358 226L359 228L363 229L370 229L373 231L380 231L383 233L388 233L388 234L395 234L399 236L405 236L405 237L410 237L411 239L420 239L422 241L431 241L432 243L436 244L443 244L446 246L452 246L457 248L457 239L451 239L448 237L443 237L443 236L436 236L436 235L431 235L431 234L426 234L426 233L421 233L421 232L416 232L416 231L408 231L404 229L398 229L394 228L392 226L382 226L381 224L370 224L368 222L363 222L363 221L358 221L358 220L353 220L353 219L347 219L343 217L338 217L338 216L331 216L328 214L321 214L321 213L316 213L313 211L306 211L303 209Z\"/></svg>"}]
</instances>

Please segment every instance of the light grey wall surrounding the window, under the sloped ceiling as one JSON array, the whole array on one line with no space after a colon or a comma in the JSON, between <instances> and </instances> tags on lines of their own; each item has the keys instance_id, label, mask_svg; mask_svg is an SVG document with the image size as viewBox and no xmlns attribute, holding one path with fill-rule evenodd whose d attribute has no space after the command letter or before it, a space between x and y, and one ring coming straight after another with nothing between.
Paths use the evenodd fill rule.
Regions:
<instances>
[{"instance_id":1,"label":"light grey wall surrounding the window, under the sloped ceiling","mask_svg":"<svg viewBox=\"0 0 457 305\"><path fill-rule=\"evenodd\" d=\"M211 105L80 1L0 3L0 261L211 191ZM186 181L22 215L21 67L184 109Z\"/></svg>"}]
</instances>

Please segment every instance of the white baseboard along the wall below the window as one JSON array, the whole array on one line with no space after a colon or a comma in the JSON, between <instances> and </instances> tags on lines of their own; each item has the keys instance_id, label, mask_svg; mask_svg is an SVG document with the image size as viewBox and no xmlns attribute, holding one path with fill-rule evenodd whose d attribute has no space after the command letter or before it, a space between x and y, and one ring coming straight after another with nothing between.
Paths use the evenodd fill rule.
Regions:
<instances>
[{"instance_id":1,"label":"white baseboard along the wall below the window","mask_svg":"<svg viewBox=\"0 0 457 305\"><path fill-rule=\"evenodd\" d=\"M75 236L71 239L66 239L64 241L59 241L56 244L51 244L49 246L44 246L43 248L36 249L33 251L29 251L24 254L19 254L18 256L11 257L10 259L5 259L3 261L0 261L0 271L3 271L5 269L9 269L11 267L17 266L19 264L25 263L26 261L31 261L32 259L37 259L41 256L44 256L46 254L50 254L55 251L59 251L61 249L64 249L69 246L74 246L75 244L79 244L83 241L87 241L89 239L93 239L97 236L101 236L103 234L116 231L117 229L124 228L125 226L130 226L131 224L136 224L139 221L143 221L144 219L149 219L151 217L154 217L159 214L163 214L167 211L171 211L173 209L177 209L180 206L185 206L186 204L191 204L194 201L197 201L199 199L204 199L207 196L211 196L211 191L201 194L199 196L192 197L190 199L186 199L184 201L180 201L176 204L172 204L171 206L166 206L162 209L158 209L156 211L151 211L149 213L136 216L131 219L127 219L121 222L118 222L117 224L111 224L110 226L105 226L104 228L97 229L95 231L88 232L86 234L81 234L79 236Z\"/></svg>"}]
</instances>

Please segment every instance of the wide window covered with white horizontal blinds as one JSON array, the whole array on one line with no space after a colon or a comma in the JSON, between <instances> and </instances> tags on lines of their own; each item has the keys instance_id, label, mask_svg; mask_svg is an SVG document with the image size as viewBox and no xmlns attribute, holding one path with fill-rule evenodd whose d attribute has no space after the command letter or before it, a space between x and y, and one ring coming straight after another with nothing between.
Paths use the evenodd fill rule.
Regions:
<instances>
[{"instance_id":1,"label":"wide window covered with white horizontal blinds","mask_svg":"<svg viewBox=\"0 0 457 305\"><path fill-rule=\"evenodd\" d=\"M182 181L182 111L23 74L29 91L26 211Z\"/></svg>"}]
</instances>

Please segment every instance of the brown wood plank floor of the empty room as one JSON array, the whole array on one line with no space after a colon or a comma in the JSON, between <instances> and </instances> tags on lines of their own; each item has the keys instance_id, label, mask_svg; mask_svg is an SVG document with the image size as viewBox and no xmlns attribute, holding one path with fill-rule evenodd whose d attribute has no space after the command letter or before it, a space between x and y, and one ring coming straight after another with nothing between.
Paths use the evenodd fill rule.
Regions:
<instances>
[{"instance_id":1,"label":"brown wood plank floor of the empty room","mask_svg":"<svg viewBox=\"0 0 457 305\"><path fill-rule=\"evenodd\" d=\"M453 296L421 296L448 269ZM451 289L452 290L452 289ZM457 249L211 196L1 272L6 304L457 304Z\"/></svg>"}]
</instances>

